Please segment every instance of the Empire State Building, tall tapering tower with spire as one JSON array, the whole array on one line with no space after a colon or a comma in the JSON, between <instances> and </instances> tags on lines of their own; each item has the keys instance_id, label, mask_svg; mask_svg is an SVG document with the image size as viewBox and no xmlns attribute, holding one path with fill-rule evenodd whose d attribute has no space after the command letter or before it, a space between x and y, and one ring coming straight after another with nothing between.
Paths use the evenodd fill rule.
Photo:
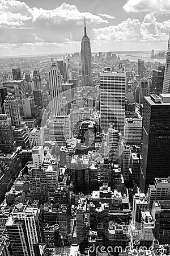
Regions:
<instances>
[{"instance_id":1,"label":"Empire State Building, tall tapering tower with spire","mask_svg":"<svg viewBox=\"0 0 170 256\"><path fill-rule=\"evenodd\" d=\"M86 32L86 20L84 19L84 35L81 43L82 57L82 86L92 86L92 71L91 71L91 47L90 39Z\"/></svg>"}]
</instances>

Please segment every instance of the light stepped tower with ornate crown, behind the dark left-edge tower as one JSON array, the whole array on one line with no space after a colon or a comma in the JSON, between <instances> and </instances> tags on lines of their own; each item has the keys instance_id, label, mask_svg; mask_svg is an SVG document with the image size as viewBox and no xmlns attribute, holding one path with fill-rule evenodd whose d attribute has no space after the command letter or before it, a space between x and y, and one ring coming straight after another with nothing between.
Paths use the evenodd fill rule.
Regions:
<instances>
[{"instance_id":1,"label":"light stepped tower with ornate crown, behind the dark left-edge tower","mask_svg":"<svg viewBox=\"0 0 170 256\"><path fill-rule=\"evenodd\" d=\"M21 118L19 112L18 100L11 93L8 93L4 101L5 114L11 118L11 125L19 128L21 125Z\"/></svg>"}]
</instances>

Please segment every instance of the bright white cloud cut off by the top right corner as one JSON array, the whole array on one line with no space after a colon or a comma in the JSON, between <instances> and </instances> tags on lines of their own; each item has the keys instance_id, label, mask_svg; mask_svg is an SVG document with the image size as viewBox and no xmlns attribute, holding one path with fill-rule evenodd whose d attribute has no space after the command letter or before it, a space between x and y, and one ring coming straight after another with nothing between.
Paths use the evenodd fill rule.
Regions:
<instances>
[{"instance_id":1,"label":"bright white cloud cut off by the top right corner","mask_svg":"<svg viewBox=\"0 0 170 256\"><path fill-rule=\"evenodd\" d=\"M170 11L170 0L128 0L123 9L127 13L149 13L168 14Z\"/></svg>"}]
</instances>

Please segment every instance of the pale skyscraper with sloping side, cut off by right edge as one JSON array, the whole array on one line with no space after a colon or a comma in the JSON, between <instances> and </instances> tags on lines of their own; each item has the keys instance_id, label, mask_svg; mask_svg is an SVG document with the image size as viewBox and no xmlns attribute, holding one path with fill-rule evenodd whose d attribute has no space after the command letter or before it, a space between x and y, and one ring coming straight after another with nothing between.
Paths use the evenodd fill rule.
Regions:
<instances>
[{"instance_id":1,"label":"pale skyscraper with sloping side, cut off by right edge","mask_svg":"<svg viewBox=\"0 0 170 256\"><path fill-rule=\"evenodd\" d=\"M167 59L166 59L166 65L165 65L162 93L170 93L170 36L168 40Z\"/></svg>"}]
</instances>

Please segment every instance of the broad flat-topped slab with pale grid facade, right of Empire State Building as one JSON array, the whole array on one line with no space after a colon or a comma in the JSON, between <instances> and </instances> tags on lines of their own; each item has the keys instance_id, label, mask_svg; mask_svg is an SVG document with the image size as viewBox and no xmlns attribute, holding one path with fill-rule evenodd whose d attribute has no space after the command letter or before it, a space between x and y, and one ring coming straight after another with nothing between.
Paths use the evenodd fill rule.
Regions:
<instances>
[{"instance_id":1,"label":"broad flat-topped slab with pale grid facade, right of Empire State Building","mask_svg":"<svg viewBox=\"0 0 170 256\"><path fill-rule=\"evenodd\" d=\"M108 131L109 123L124 136L126 73L111 72L105 68L100 73L101 129Z\"/></svg>"}]
</instances>

